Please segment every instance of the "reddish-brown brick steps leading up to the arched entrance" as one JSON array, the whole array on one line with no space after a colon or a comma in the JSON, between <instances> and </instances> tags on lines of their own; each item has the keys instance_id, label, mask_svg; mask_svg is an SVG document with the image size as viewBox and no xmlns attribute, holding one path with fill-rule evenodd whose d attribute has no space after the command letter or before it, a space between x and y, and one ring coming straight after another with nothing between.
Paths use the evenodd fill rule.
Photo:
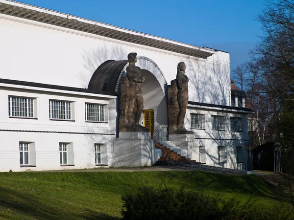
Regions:
<instances>
[{"instance_id":1,"label":"reddish-brown brick steps leading up to the arched entrance","mask_svg":"<svg viewBox=\"0 0 294 220\"><path fill-rule=\"evenodd\" d=\"M155 142L155 148L161 150L161 157L156 161L156 165L200 164L196 160L175 153L163 144Z\"/></svg>"}]
</instances>

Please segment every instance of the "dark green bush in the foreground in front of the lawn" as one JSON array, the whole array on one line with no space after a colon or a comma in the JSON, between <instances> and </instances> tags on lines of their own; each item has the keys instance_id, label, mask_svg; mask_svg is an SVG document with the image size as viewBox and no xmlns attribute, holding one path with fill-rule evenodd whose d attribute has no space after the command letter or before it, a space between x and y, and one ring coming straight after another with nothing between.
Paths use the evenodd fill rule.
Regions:
<instances>
[{"instance_id":1,"label":"dark green bush in the foreground in front of the lawn","mask_svg":"<svg viewBox=\"0 0 294 220\"><path fill-rule=\"evenodd\" d=\"M203 191L175 190L143 186L122 196L125 220L293 220L293 209L284 203L261 209L251 198L240 205L237 198L227 201L221 195Z\"/></svg>"}]
</instances>

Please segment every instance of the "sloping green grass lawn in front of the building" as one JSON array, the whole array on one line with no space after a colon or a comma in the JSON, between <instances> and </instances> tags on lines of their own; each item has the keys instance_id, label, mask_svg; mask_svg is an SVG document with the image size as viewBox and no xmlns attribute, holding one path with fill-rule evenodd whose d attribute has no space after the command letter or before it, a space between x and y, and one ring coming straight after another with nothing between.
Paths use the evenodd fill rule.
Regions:
<instances>
[{"instance_id":1,"label":"sloping green grass lawn in front of the building","mask_svg":"<svg viewBox=\"0 0 294 220\"><path fill-rule=\"evenodd\" d=\"M0 173L0 219L120 219L121 195L142 185L166 185L237 196L254 194L269 207L275 195L255 176L191 172L30 172Z\"/></svg>"}]
</instances>

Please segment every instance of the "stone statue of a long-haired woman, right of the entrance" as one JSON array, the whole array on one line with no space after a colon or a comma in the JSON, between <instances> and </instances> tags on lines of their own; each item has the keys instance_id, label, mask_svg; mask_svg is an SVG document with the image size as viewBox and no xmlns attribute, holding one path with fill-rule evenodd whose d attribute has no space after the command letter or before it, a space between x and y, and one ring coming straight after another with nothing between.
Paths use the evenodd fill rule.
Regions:
<instances>
[{"instance_id":1,"label":"stone statue of a long-haired woman, right of the entrance","mask_svg":"<svg viewBox=\"0 0 294 220\"><path fill-rule=\"evenodd\" d=\"M177 74L176 74L176 87L178 89L177 92L177 101L179 105L179 114L177 117L177 133L189 133L184 127L185 114L188 106L188 82L189 79L185 75L186 65L184 62L180 62L177 66Z\"/></svg>"}]
</instances>

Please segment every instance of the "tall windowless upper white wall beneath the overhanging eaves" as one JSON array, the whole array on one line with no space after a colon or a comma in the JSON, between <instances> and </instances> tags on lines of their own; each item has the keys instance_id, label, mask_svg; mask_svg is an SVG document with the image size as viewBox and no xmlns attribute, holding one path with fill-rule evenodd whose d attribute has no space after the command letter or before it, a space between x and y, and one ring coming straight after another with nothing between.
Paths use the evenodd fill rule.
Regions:
<instances>
[{"instance_id":1,"label":"tall windowless upper white wall beneath the overhanging eaves","mask_svg":"<svg viewBox=\"0 0 294 220\"><path fill-rule=\"evenodd\" d=\"M14 20L14 21L12 21ZM40 22L0 15L1 78L87 88L96 68L106 60L125 60L129 52L152 59L168 83L177 64L185 62L189 100L230 105L229 54L207 60Z\"/></svg>"}]
</instances>

